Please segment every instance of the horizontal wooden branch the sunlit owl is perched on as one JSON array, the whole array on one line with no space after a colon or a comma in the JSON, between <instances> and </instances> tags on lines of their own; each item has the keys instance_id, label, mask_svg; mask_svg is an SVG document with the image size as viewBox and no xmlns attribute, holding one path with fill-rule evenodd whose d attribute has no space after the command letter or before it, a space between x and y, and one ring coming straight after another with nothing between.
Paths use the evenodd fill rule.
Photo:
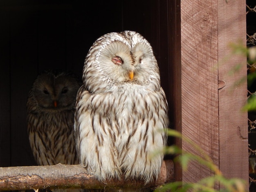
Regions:
<instances>
[{"instance_id":1,"label":"horizontal wooden branch the sunlit owl is perched on","mask_svg":"<svg viewBox=\"0 0 256 192\"><path fill-rule=\"evenodd\" d=\"M143 181L108 180L100 182L85 173L81 165L49 165L0 167L0 190L30 190L54 188L155 188L170 183L174 178L173 161L162 163L157 181L144 185Z\"/></svg>"}]
</instances>

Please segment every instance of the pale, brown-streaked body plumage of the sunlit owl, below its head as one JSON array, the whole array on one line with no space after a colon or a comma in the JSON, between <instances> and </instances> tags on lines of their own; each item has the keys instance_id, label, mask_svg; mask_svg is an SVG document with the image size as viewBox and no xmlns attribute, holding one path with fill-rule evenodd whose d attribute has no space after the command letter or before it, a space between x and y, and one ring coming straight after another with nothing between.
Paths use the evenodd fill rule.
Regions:
<instances>
[{"instance_id":1,"label":"pale, brown-streaked body plumage of the sunlit owl, below its head","mask_svg":"<svg viewBox=\"0 0 256 192\"><path fill-rule=\"evenodd\" d=\"M119 86L97 94L83 89L76 103L75 131L80 163L100 180L157 177L166 144L168 106L162 88Z\"/></svg>"}]
</instances>

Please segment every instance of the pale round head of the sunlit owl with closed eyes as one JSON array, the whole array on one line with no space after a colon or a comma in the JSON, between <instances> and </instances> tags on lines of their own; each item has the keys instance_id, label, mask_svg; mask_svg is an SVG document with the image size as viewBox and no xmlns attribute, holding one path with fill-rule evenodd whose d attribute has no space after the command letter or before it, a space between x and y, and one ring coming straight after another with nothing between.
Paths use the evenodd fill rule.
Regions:
<instances>
[{"instance_id":1,"label":"pale round head of the sunlit owl with closed eyes","mask_svg":"<svg viewBox=\"0 0 256 192\"><path fill-rule=\"evenodd\" d=\"M107 33L85 58L83 83L90 92L127 83L160 87L159 68L150 43L135 31Z\"/></svg>"}]
</instances>

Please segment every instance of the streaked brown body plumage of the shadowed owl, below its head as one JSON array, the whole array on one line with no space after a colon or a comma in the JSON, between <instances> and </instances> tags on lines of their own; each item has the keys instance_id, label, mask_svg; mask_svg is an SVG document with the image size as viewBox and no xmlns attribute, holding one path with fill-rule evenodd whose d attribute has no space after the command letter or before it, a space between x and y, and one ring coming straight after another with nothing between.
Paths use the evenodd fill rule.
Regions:
<instances>
[{"instance_id":1,"label":"streaked brown body plumage of the shadowed owl, below its head","mask_svg":"<svg viewBox=\"0 0 256 192\"><path fill-rule=\"evenodd\" d=\"M74 110L28 114L28 133L38 165L79 164L74 144Z\"/></svg>"}]
</instances>

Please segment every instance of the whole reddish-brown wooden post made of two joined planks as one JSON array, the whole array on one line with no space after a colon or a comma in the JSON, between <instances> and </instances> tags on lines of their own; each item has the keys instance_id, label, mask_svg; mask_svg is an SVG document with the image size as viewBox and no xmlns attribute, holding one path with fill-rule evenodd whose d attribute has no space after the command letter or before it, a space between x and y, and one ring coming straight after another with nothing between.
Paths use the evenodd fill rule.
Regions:
<instances>
[{"instance_id":1,"label":"whole reddish-brown wooden post made of two joined planks","mask_svg":"<svg viewBox=\"0 0 256 192\"><path fill-rule=\"evenodd\" d=\"M221 62L230 53L230 42L241 40L245 45L245 2L182 0L180 9L182 115L176 119L181 121L177 129L197 143L225 176L247 180L247 114L241 112L247 99L246 83L230 89L246 75L246 58L233 56ZM241 70L229 76L238 63L243 64ZM219 82L226 84L218 87ZM201 155L184 141L180 146ZM213 174L192 162L187 171L176 172L176 179L197 182Z\"/></svg>"}]
</instances>

